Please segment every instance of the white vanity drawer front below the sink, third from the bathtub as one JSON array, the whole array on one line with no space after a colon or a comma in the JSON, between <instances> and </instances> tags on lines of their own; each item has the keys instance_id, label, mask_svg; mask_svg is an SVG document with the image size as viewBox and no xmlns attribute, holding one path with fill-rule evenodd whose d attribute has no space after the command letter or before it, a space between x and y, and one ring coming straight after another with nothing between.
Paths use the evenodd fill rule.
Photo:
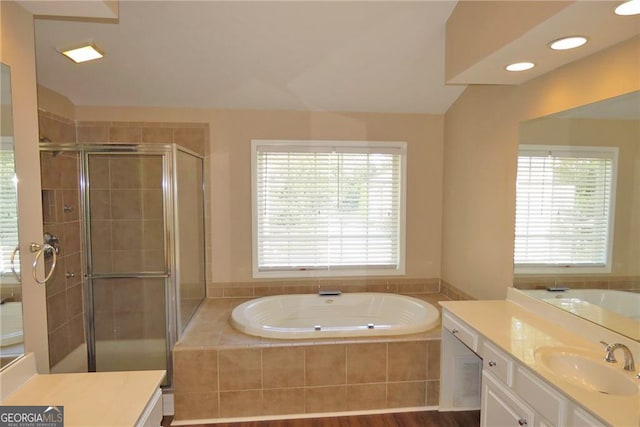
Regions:
<instances>
[{"instance_id":1,"label":"white vanity drawer front below the sink, third from the bathtub","mask_svg":"<svg viewBox=\"0 0 640 427\"><path fill-rule=\"evenodd\" d=\"M566 425L565 399L521 367L515 370L513 389L527 404L555 426Z\"/></svg>"}]
</instances>

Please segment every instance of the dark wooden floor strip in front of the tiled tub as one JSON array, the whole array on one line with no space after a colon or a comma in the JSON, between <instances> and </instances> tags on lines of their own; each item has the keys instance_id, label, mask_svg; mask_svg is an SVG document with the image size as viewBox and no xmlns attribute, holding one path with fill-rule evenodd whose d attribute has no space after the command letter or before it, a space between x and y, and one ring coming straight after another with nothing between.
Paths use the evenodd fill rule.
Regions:
<instances>
[{"instance_id":1,"label":"dark wooden floor strip in front of the tiled tub","mask_svg":"<svg viewBox=\"0 0 640 427\"><path fill-rule=\"evenodd\" d=\"M170 425L165 418L163 426ZM348 417L297 420L248 421L241 423L194 424L195 427L478 427L480 411L403 412L396 414L354 415Z\"/></svg>"}]
</instances>

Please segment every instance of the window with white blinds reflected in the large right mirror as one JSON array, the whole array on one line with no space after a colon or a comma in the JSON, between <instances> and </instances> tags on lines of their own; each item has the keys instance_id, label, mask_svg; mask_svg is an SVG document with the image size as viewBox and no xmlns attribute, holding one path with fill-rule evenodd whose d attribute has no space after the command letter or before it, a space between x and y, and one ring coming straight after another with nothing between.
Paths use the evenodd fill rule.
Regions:
<instances>
[{"instance_id":1,"label":"window with white blinds reflected in the large right mirror","mask_svg":"<svg viewBox=\"0 0 640 427\"><path fill-rule=\"evenodd\" d=\"M617 148L521 146L516 272L610 271Z\"/></svg>"}]
</instances>

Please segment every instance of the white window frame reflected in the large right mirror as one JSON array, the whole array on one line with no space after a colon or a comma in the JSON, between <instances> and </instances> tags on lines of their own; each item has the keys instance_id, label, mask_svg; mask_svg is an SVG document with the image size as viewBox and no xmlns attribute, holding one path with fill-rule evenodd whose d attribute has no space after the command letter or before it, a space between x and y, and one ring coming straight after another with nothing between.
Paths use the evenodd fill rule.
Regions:
<instances>
[{"instance_id":1,"label":"white window frame reflected in the large right mirror","mask_svg":"<svg viewBox=\"0 0 640 427\"><path fill-rule=\"evenodd\" d=\"M605 262L604 264L518 264L515 261L515 218L514 218L514 256L513 266L514 274L608 274L612 272L613 268L613 242L614 242L614 230L615 230L615 214L616 214L616 194L617 194L617 181L618 181L618 147L613 146L588 146L588 145L537 145L537 144L520 144L518 147L518 156L516 158L516 174L517 174L517 161L520 158L521 152L550 152L558 153L558 155L568 155L575 158L580 158L581 154L584 156L593 155L594 153L607 153L611 158L611 188L609 197L609 222L607 225L607 247L605 249ZM604 156L603 156L604 157ZM517 194L517 176L516 176L516 200ZM514 214L517 212L514 209Z\"/></svg>"}]
</instances>

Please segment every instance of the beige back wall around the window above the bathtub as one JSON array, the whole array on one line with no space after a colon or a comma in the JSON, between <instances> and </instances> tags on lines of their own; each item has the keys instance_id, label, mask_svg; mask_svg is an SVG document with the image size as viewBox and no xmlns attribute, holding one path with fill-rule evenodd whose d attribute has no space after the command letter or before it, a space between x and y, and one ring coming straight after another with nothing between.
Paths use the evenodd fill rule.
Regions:
<instances>
[{"instance_id":1,"label":"beige back wall around the window above the bathtub","mask_svg":"<svg viewBox=\"0 0 640 427\"><path fill-rule=\"evenodd\" d=\"M214 283L252 281L252 139L406 141L406 277L440 277L443 116L76 106L76 118L209 123Z\"/></svg>"}]
</instances>

